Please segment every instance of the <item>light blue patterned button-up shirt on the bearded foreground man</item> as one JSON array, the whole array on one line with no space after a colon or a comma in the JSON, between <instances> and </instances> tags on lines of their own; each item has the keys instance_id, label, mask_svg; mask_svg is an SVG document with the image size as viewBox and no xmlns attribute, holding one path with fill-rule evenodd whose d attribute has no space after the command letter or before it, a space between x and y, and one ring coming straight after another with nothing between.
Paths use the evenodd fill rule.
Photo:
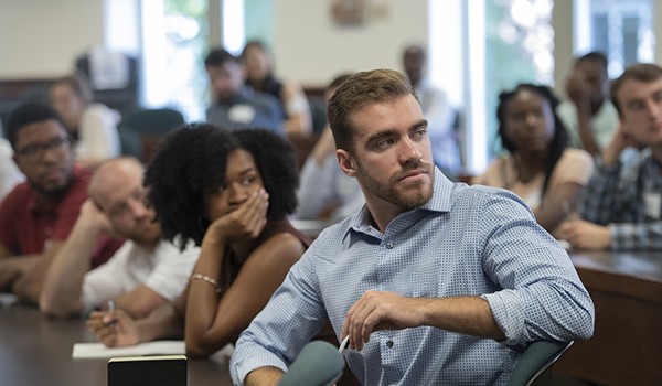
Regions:
<instances>
[{"instance_id":1,"label":"light blue patterned button-up shirt on the bearded foreground man","mask_svg":"<svg viewBox=\"0 0 662 386\"><path fill-rule=\"evenodd\" d=\"M384 234L364 206L325 229L237 341L235 384L253 369L286 369L330 320L337 335L367 290L405 297L481 296L506 340L437 328L377 331L345 360L365 385L503 385L527 342L592 334L594 307L567 253L514 194L448 181Z\"/></svg>"}]
</instances>

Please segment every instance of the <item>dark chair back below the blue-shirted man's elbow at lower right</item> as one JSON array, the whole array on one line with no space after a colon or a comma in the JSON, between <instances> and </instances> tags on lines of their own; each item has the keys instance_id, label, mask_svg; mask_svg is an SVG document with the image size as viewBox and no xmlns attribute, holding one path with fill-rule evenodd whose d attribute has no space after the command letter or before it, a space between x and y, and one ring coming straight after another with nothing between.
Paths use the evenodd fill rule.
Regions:
<instances>
[{"instance_id":1,"label":"dark chair back below the blue-shirted man's elbow at lower right","mask_svg":"<svg viewBox=\"0 0 662 386\"><path fill-rule=\"evenodd\" d=\"M520 357L508 386L548 385L554 363L573 343L573 341L535 341L531 343Z\"/></svg>"}]
</instances>

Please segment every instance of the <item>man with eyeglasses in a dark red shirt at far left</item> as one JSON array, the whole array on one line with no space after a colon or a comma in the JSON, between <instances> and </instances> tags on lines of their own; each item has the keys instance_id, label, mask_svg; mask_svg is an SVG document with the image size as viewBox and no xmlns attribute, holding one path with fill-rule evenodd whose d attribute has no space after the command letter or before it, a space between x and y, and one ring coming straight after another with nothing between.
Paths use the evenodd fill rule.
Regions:
<instances>
[{"instance_id":1,"label":"man with eyeglasses in a dark red shirt at far left","mask_svg":"<svg viewBox=\"0 0 662 386\"><path fill-rule=\"evenodd\" d=\"M41 104L19 106L7 139L25 174L0 204L0 291L35 303L53 256L87 200L90 172L74 165L72 141L57 112ZM99 238L93 266L105 262L121 242Z\"/></svg>"}]
</instances>

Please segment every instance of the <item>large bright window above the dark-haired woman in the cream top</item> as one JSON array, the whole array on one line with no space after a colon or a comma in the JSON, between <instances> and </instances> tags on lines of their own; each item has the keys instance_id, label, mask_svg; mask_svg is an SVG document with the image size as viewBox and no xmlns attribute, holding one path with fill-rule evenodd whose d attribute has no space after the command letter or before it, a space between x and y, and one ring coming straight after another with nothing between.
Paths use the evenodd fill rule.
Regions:
<instances>
[{"instance_id":1,"label":"large bright window above the dark-haired woman in the cream top","mask_svg":"<svg viewBox=\"0 0 662 386\"><path fill-rule=\"evenodd\" d=\"M441 79L438 84L462 111L466 172L482 173L501 151L499 93L522 82L553 84L554 2L430 0L428 4L430 78ZM448 36L460 36L456 42L461 44L449 44Z\"/></svg>"}]
</instances>

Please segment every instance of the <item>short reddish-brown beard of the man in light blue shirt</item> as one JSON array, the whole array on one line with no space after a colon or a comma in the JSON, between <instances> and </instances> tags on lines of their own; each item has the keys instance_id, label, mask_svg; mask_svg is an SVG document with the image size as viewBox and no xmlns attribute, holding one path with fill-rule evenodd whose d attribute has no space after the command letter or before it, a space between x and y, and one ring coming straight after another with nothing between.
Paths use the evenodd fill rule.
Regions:
<instances>
[{"instance_id":1,"label":"short reddish-brown beard of the man in light blue shirt","mask_svg":"<svg viewBox=\"0 0 662 386\"><path fill-rule=\"evenodd\" d=\"M408 186L406 186L407 189L404 189L403 183L399 181L403 175L412 170L421 168L427 171L430 178L429 185L427 185L427 182L425 181L416 181L408 184ZM425 203L430 201L434 193L433 186L435 184L435 170L429 163L412 163L410 165L407 165L401 173L392 175L386 183L380 181L377 176L359 164L356 178L359 181L361 181L367 193L403 208L403 212L423 206Z\"/></svg>"}]
</instances>

